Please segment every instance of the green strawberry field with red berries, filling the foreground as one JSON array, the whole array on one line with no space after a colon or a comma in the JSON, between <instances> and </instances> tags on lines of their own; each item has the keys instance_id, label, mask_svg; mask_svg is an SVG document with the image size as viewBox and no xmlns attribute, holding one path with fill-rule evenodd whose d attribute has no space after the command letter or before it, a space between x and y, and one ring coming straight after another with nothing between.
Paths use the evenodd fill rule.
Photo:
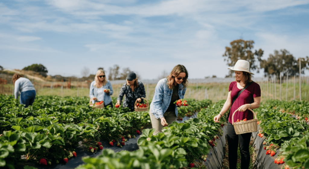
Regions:
<instances>
[{"instance_id":1,"label":"green strawberry field with red berries, filling the foreground","mask_svg":"<svg viewBox=\"0 0 309 169\"><path fill-rule=\"evenodd\" d=\"M178 123L152 136L148 112L93 109L88 97L38 96L28 108L0 99L4 168L222 168L225 122L213 117L224 101L189 99ZM308 109L304 101L269 100L254 110L254 168L309 168Z\"/></svg>"}]
</instances>

